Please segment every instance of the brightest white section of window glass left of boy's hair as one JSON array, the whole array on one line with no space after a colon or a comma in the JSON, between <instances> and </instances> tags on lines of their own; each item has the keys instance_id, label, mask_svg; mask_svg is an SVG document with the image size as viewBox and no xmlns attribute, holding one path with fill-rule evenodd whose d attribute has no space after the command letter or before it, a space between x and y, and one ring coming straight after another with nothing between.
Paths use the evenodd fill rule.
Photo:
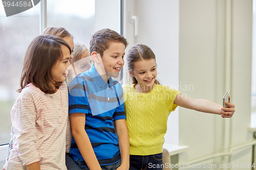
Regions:
<instances>
[{"instance_id":1,"label":"brightest white section of window glass left of boy's hair","mask_svg":"<svg viewBox=\"0 0 256 170\"><path fill-rule=\"evenodd\" d=\"M48 0L47 26L64 27L75 38L89 48L94 33L94 0Z\"/></svg>"}]
</instances>

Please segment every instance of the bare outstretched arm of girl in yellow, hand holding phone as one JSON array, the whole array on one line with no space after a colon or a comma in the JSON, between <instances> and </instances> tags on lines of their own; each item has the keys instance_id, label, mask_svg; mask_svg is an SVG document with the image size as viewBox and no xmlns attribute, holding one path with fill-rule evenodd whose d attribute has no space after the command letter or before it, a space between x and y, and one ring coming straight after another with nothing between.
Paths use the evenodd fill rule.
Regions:
<instances>
[{"instance_id":1,"label":"bare outstretched arm of girl in yellow, hand holding phone","mask_svg":"<svg viewBox=\"0 0 256 170\"><path fill-rule=\"evenodd\" d=\"M230 103L230 97L228 98L228 103L225 103L227 108L206 99L189 98L184 94L178 94L174 100L174 104L200 112L220 114L223 118L232 117L235 111L234 105Z\"/></svg>"}]
</instances>

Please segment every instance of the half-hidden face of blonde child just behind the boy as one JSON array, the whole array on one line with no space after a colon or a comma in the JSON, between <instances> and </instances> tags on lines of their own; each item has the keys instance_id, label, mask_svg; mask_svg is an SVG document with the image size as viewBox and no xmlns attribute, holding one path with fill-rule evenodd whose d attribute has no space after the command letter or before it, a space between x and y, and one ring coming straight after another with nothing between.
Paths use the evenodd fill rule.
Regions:
<instances>
[{"instance_id":1,"label":"half-hidden face of blonde child just behind the boy","mask_svg":"<svg viewBox=\"0 0 256 170\"><path fill-rule=\"evenodd\" d=\"M82 56L81 59L74 62L74 67L76 70L76 74L80 74L84 71L87 71L91 68L92 60L89 54L89 50L86 50Z\"/></svg>"}]
</instances>

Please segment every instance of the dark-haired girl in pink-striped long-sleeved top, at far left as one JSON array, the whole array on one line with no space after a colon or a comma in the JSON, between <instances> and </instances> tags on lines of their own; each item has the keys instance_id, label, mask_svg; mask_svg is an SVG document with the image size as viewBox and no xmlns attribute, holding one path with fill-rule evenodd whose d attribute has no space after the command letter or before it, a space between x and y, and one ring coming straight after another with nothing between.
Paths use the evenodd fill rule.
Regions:
<instances>
[{"instance_id":1,"label":"dark-haired girl in pink-striped long-sleeved top, at far left","mask_svg":"<svg viewBox=\"0 0 256 170\"><path fill-rule=\"evenodd\" d=\"M30 43L11 110L15 138L6 169L67 169L70 58L62 38L40 35Z\"/></svg>"}]
</instances>

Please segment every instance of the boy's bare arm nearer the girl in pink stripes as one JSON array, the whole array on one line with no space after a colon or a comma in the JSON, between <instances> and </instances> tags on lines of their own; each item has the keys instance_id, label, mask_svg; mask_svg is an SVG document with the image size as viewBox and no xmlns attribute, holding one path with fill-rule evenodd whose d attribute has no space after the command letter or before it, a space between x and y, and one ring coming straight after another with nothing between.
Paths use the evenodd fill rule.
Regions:
<instances>
[{"instance_id":1,"label":"boy's bare arm nearer the girl in pink stripes","mask_svg":"<svg viewBox=\"0 0 256 170\"><path fill-rule=\"evenodd\" d=\"M89 169L101 169L99 162L96 158L96 155L93 151L91 141L86 133L86 130L84 129L84 125L86 124L86 114L71 113L70 122L71 122L72 135Z\"/></svg>"}]
</instances>

